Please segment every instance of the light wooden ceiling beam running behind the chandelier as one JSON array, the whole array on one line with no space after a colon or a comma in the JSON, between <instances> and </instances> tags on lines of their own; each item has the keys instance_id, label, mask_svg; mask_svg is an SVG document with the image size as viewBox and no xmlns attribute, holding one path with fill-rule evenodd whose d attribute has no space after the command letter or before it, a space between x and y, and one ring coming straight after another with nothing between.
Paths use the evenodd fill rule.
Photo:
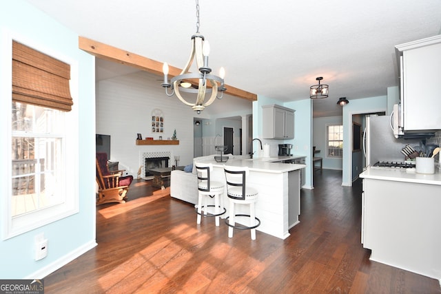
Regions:
<instances>
[{"instance_id":1,"label":"light wooden ceiling beam running behind the chandelier","mask_svg":"<svg viewBox=\"0 0 441 294\"><path fill-rule=\"evenodd\" d=\"M79 48L88 52L96 57L105 59L107 61L114 61L116 63L121 63L123 65L129 65L136 67L139 70L145 70L146 72L151 72L152 74L157 74L158 76L163 76L163 63L159 61L154 61L147 57L127 52L125 50L115 48L111 45L106 45L92 39L79 36ZM178 67L173 67L169 65L169 76L178 76L181 74L182 70ZM257 101L257 95L240 90L231 85L225 85L227 91L225 94L236 96L238 98L243 98L248 101Z\"/></svg>"}]
</instances>

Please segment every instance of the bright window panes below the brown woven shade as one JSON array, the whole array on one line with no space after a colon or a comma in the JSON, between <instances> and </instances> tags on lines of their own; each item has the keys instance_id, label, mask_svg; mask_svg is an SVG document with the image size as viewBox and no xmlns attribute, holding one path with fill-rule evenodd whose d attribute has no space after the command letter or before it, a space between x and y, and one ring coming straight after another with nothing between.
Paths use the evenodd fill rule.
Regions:
<instances>
[{"instance_id":1,"label":"bright window panes below the brown woven shade","mask_svg":"<svg viewBox=\"0 0 441 294\"><path fill-rule=\"evenodd\" d=\"M12 102L11 216L64 202L64 113Z\"/></svg>"}]
</instances>

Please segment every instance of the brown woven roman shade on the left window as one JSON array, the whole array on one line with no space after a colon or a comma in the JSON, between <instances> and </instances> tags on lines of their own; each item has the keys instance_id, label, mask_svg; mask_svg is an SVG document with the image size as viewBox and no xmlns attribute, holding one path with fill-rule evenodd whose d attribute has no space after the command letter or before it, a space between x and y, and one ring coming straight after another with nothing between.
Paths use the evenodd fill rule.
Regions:
<instances>
[{"instance_id":1,"label":"brown woven roman shade on the left window","mask_svg":"<svg viewBox=\"0 0 441 294\"><path fill-rule=\"evenodd\" d=\"M72 110L70 65L12 41L12 100Z\"/></svg>"}]
</instances>

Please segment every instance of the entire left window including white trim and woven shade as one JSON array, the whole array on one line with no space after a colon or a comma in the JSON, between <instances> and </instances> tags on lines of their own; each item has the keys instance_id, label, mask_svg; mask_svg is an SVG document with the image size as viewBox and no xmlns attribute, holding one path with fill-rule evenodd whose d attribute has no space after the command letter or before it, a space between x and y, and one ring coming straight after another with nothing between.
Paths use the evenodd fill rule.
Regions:
<instances>
[{"instance_id":1,"label":"entire left window including white trim and woven shade","mask_svg":"<svg viewBox=\"0 0 441 294\"><path fill-rule=\"evenodd\" d=\"M70 78L71 67L77 73L78 65L12 38L0 42L5 52L1 74L6 77L0 81L5 97L0 101L2 137L10 147L1 154L10 162L5 169L10 180L2 190L4 240L79 210L79 118L70 96L70 86L76 93L78 85L76 74Z\"/></svg>"}]
</instances>

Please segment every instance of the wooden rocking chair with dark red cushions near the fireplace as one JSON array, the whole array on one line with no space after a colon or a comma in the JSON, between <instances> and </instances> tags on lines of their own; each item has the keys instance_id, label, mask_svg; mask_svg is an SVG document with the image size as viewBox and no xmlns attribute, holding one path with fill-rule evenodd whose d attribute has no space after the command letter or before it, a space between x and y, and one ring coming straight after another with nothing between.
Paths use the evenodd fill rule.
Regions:
<instances>
[{"instance_id":1,"label":"wooden rocking chair with dark red cushions near the fireplace","mask_svg":"<svg viewBox=\"0 0 441 294\"><path fill-rule=\"evenodd\" d=\"M124 203L133 176L122 176L123 170L109 171L107 154L96 153L96 182L98 183L98 199L96 204L109 202Z\"/></svg>"}]
</instances>

